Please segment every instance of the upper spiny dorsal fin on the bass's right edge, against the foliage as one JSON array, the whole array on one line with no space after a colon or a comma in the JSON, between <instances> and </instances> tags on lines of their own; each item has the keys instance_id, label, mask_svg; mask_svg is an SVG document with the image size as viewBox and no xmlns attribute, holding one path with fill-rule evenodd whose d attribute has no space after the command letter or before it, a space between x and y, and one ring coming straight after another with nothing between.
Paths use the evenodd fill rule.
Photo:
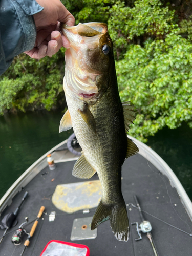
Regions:
<instances>
[{"instance_id":1,"label":"upper spiny dorsal fin on the bass's right edge, against the foliage","mask_svg":"<svg viewBox=\"0 0 192 256\"><path fill-rule=\"evenodd\" d=\"M126 133L130 130L130 124L133 123L135 120L135 113L134 110L135 106L131 105L129 101L123 102L123 115L124 115L124 124L125 124L125 131Z\"/></svg>"}]
</instances>

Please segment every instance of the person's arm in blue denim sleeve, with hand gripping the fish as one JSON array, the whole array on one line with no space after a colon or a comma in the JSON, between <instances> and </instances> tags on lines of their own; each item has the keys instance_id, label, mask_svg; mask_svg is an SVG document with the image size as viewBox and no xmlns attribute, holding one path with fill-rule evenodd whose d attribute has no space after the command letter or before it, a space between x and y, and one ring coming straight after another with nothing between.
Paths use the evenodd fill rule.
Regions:
<instances>
[{"instance_id":1,"label":"person's arm in blue denim sleeve, with hand gripping the fish","mask_svg":"<svg viewBox=\"0 0 192 256\"><path fill-rule=\"evenodd\" d=\"M40 59L52 56L62 45L69 47L67 39L58 31L59 22L74 25L74 17L59 0L37 2L0 1L0 75L19 53L26 52Z\"/></svg>"}]
</instances>

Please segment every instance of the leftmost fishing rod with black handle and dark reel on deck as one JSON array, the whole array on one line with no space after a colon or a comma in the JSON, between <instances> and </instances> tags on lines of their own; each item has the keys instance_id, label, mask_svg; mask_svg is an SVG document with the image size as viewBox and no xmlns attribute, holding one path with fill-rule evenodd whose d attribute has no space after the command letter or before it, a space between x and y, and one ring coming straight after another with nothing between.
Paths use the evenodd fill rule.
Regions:
<instances>
[{"instance_id":1,"label":"leftmost fishing rod with black handle and dark reel on deck","mask_svg":"<svg viewBox=\"0 0 192 256\"><path fill-rule=\"evenodd\" d=\"M22 206L23 202L25 201L25 199L28 196L28 192L26 191L26 193L24 194L23 198L22 198L22 202L20 202L19 206L16 208L16 210L14 212L9 212L9 214L6 214L4 216L4 218L2 219L2 224L1 224L1 228L4 229L5 228L5 232L3 234L3 237L0 239L0 244L3 241L5 234L7 233L8 229L10 229L11 227L14 227L17 224L17 220L16 217L18 215L19 209Z\"/></svg>"}]
</instances>

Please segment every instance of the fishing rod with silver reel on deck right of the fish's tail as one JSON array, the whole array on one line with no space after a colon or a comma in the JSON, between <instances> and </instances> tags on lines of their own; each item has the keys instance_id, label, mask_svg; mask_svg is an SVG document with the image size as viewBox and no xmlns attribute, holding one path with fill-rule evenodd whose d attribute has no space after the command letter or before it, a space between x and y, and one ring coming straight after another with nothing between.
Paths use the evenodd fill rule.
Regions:
<instances>
[{"instance_id":1,"label":"fishing rod with silver reel on deck right of the fish's tail","mask_svg":"<svg viewBox=\"0 0 192 256\"><path fill-rule=\"evenodd\" d=\"M158 252L157 252L157 249L156 249L156 246L155 246L155 243L154 243L154 240L153 240L153 237L152 237L152 225L149 221L146 221L143 217L143 214L142 214L142 210L141 210L141 207L139 205L139 202L138 202L138 199L137 199L137 196L134 195L134 199L135 199L135 202L136 202L136 205L139 209L139 215L141 217L141 224L139 225L138 222L133 222L131 223L132 225L136 225L136 229L137 229L137 233L138 233L138 236L139 238L136 238L135 241L139 241L142 239L142 236L141 236L141 233L140 231L142 231L143 233L146 233L146 236L148 238L148 240L150 240L150 243L151 243L151 246L153 248L153 252L155 254L155 256L159 256Z\"/></svg>"}]
</instances>

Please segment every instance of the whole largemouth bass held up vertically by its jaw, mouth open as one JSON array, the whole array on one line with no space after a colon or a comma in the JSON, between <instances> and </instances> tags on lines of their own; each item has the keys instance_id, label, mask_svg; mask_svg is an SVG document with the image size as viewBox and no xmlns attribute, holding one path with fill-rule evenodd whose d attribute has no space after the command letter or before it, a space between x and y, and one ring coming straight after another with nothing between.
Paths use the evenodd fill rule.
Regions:
<instances>
[{"instance_id":1,"label":"whole largemouth bass held up vertically by its jaw, mouth open","mask_svg":"<svg viewBox=\"0 0 192 256\"><path fill-rule=\"evenodd\" d=\"M129 221L121 193L121 166L125 158L138 152L126 136L134 120L134 106L120 101L107 25L62 25L62 33L71 47L66 50L63 80L68 111L61 119L59 131L73 127L82 148L73 175L91 178L97 172L102 185L103 194L91 229L110 219L115 237L127 241Z\"/></svg>"}]
</instances>

